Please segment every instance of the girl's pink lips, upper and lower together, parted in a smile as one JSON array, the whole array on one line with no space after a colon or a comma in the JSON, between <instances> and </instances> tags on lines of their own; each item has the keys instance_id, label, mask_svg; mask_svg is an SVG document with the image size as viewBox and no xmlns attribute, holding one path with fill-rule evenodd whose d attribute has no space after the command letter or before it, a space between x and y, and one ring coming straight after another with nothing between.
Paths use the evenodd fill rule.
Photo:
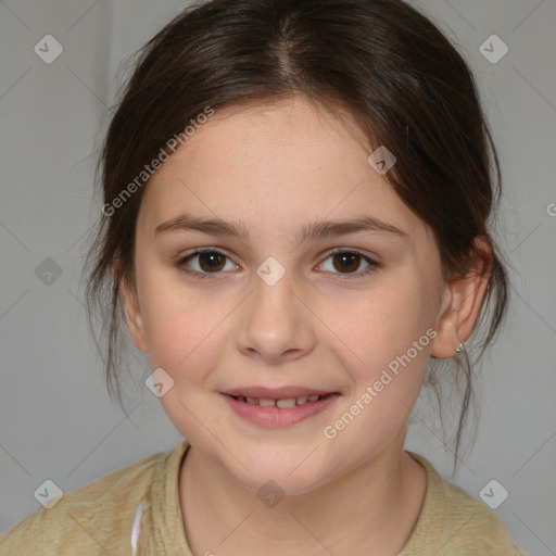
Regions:
<instances>
[{"instance_id":1,"label":"girl's pink lips, upper and lower together, parted in a smile","mask_svg":"<svg viewBox=\"0 0 556 556\"><path fill-rule=\"evenodd\" d=\"M271 392L273 395L265 394L268 399L287 399L287 397L295 397L295 395L290 395L291 392L302 392L298 395L317 395L319 392L315 390L307 389L296 389L296 390L286 390L288 392L287 396L277 396L277 390L268 390L268 389L241 389L241 392L249 392L251 395L249 397L265 397L265 395L253 395L252 392ZM239 392L239 390L238 390ZM307 394L311 392L311 394ZM314 417L326 409L328 409L331 405L336 403L336 401L340 397L338 392L325 392L328 394L323 400L318 400L316 402L306 402L303 405L295 405L294 407L287 407L280 409L279 407L262 407L260 405L251 405L247 402L240 402L232 395L242 395L242 394L227 394L220 393L220 395L226 400L232 412L239 417L257 425L264 428L280 428L280 427L290 427L292 425L296 425L301 421L304 421L311 417Z\"/></svg>"}]
</instances>

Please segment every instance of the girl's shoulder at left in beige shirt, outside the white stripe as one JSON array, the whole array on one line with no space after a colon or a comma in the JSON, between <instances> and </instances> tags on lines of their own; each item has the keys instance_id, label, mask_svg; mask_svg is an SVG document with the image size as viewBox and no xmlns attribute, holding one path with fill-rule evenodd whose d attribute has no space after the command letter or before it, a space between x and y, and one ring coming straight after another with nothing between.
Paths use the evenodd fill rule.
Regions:
<instances>
[{"instance_id":1,"label":"girl's shoulder at left in beige shirt, outside the white stripe","mask_svg":"<svg viewBox=\"0 0 556 556\"><path fill-rule=\"evenodd\" d=\"M167 464L160 452L66 492L50 509L41 507L0 536L0 556L93 556L130 553L137 506Z\"/></svg>"}]
</instances>

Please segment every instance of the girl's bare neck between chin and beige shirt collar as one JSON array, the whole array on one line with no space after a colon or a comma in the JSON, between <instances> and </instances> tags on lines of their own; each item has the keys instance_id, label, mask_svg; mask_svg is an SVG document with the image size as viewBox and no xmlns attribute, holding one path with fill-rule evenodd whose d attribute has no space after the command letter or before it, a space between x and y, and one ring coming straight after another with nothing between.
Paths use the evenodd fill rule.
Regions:
<instances>
[{"instance_id":1,"label":"girl's bare neck between chin and beige shirt collar","mask_svg":"<svg viewBox=\"0 0 556 556\"><path fill-rule=\"evenodd\" d=\"M426 490L426 471L403 451L403 440L314 491L268 506L190 446L179 495L192 552L362 554L365 547L366 555L397 555L415 527Z\"/></svg>"}]
</instances>

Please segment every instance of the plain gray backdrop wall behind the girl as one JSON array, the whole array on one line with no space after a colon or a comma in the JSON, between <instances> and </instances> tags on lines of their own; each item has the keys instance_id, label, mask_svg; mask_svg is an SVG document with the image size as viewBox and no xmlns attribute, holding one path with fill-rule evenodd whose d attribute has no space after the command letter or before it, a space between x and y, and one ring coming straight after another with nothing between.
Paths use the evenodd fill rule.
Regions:
<instances>
[{"instance_id":1,"label":"plain gray backdrop wall behind the girl","mask_svg":"<svg viewBox=\"0 0 556 556\"><path fill-rule=\"evenodd\" d=\"M496 479L509 496L495 513L515 542L556 554L556 2L415 3L477 77L504 169L498 241L514 267L510 317L478 382L478 441L452 480L479 496ZM124 384L130 419L110 401L79 273L99 214L93 168L121 62L185 5L0 2L0 531L39 508L34 492L46 479L70 491L181 440L143 384L143 356L131 355ZM64 49L51 64L34 52L47 34ZM509 48L495 64L479 50L493 34ZM50 285L35 274L47 257L62 270ZM416 407L407 447L450 479L451 454L429 413Z\"/></svg>"}]
</instances>

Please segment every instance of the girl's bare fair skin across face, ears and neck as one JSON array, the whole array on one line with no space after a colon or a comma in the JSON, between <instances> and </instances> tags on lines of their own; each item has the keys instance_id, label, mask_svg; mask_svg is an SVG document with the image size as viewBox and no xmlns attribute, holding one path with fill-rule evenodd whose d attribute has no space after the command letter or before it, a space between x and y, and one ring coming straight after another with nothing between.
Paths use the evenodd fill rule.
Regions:
<instances>
[{"instance_id":1,"label":"girl's bare fair skin across face, ears and neck","mask_svg":"<svg viewBox=\"0 0 556 556\"><path fill-rule=\"evenodd\" d=\"M370 152L349 115L340 122L302 97L220 109L144 191L135 275L122 280L122 293L136 346L175 381L160 400L191 444L179 500L195 555L396 555L417 521L426 473L403 450L409 412L430 356L454 356L470 334L488 273L476 261L469 276L443 281L431 230L369 166ZM156 233L185 213L241 223L249 237ZM361 216L405 236L296 241L304 224ZM199 256L182 262L201 247L229 257L219 274ZM363 275L368 264L356 258L343 270L329 254L336 248L382 266ZM269 256L286 271L274 286L256 274ZM434 340L325 438L324 428L428 329ZM247 386L341 396L298 425L263 429L219 394ZM257 496L270 479L285 493L274 507Z\"/></svg>"}]
</instances>

